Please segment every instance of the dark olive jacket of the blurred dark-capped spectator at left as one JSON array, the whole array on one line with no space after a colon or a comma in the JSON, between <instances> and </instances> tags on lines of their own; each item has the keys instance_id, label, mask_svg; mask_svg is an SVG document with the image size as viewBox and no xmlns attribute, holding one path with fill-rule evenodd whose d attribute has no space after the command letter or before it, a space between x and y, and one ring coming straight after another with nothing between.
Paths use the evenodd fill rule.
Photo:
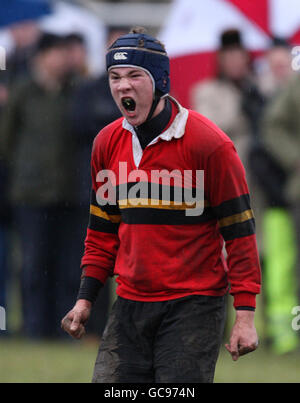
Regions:
<instances>
[{"instance_id":1,"label":"dark olive jacket of the blurred dark-capped spectator at left","mask_svg":"<svg viewBox=\"0 0 300 403\"><path fill-rule=\"evenodd\" d=\"M13 204L74 200L74 151L68 130L70 88L47 91L28 79L11 92L2 117L0 155L9 166ZM64 174L61 175L61 167Z\"/></svg>"}]
</instances>

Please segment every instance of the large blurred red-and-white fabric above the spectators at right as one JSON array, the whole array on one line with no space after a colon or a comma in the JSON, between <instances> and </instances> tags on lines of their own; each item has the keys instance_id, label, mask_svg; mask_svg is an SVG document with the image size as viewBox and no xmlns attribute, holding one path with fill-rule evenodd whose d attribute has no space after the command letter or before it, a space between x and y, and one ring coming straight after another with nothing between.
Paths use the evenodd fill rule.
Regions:
<instances>
[{"instance_id":1,"label":"large blurred red-and-white fabric above the spectators at right","mask_svg":"<svg viewBox=\"0 0 300 403\"><path fill-rule=\"evenodd\" d=\"M192 85L215 74L215 54L226 29L236 28L253 54L272 36L300 44L299 0L174 0L160 33L171 59L172 94L190 106Z\"/></svg>"}]
</instances>

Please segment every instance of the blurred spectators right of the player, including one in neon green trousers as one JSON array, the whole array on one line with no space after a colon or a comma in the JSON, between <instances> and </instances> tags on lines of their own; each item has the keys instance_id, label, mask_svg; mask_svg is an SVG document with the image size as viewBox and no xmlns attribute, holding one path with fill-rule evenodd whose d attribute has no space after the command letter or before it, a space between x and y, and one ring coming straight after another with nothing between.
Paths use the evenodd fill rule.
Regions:
<instances>
[{"instance_id":1,"label":"blurred spectators right of the player, including one in neon green trousers","mask_svg":"<svg viewBox=\"0 0 300 403\"><path fill-rule=\"evenodd\" d=\"M282 38L253 60L241 32L222 33L217 76L197 83L192 109L234 141L245 166L263 275L266 338L278 354L299 347L300 75Z\"/></svg>"}]
</instances>

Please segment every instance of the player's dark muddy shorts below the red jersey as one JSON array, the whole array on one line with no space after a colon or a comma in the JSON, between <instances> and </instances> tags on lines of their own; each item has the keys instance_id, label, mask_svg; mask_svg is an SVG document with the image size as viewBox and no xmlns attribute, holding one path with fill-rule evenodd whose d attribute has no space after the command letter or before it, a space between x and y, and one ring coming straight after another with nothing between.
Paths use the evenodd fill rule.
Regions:
<instances>
[{"instance_id":1,"label":"player's dark muddy shorts below the red jersey","mask_svg":"<svg viewBox=\"0 0 300 403\"><path fill-rule=\"evenodd\" d=\"M163 302L118 297L93 382L213 382L224 322L224 297L194 295Z\"/></svg>"}]
</instances>

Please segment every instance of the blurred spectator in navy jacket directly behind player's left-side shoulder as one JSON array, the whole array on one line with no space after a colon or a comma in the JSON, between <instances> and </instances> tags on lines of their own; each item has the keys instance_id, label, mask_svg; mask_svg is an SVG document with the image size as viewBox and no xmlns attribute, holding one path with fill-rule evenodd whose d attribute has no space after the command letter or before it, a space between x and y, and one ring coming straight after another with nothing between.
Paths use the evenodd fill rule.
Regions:
<instances>
[{"instance_id":1,"label":"blurred spectator in navy jacket directly behind player's left-side shoulder","mask_svg":"<svg viewBox=\"0 0 300 403\"><path fill-rule=\"evenodd\" d=\"M124 35L127 32L121 29L111 30L107 40L108 46L120 35ZM83 232L86 232L86 218L88 217L87 213L90 204L90 159L93 140L103 127L119 117L121 117L121 114L111 96L106 73L82 83L74 95L71 122L73 135L76 136L79 144L76 172L78 174L78 194L80 195L83 214ZM93 312L87 325L87 332L90 335L100 336L104 330L111 304L111 288L110 282L107 282L103 293L99 295L93 307Z\"/></svg>"}]
</instances>

